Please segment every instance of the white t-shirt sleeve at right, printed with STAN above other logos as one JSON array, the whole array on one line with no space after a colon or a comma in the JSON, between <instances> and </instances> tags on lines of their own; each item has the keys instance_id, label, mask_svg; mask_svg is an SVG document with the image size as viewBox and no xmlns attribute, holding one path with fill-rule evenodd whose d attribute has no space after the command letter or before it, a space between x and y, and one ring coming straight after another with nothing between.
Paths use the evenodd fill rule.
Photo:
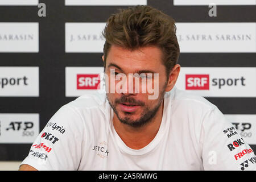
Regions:
<instances>
[{"instance_id":1,"label":"white t-shirt sleeve at right, printed with STAN above other logos","mask_svg":"<svg viewBox=\"0 0 256 182\"><path fill-rule=\"evenodd\" d=\"M217 107L203 118L200 143L205 170L256 169L253 150Z\"/></svg>"}]
</instances>

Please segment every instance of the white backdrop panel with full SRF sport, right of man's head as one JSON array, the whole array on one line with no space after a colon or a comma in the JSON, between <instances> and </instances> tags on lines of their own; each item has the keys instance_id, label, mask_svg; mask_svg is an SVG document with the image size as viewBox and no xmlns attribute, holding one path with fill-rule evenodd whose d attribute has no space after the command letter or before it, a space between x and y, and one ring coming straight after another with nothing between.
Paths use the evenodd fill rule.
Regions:
<instances>
[{"instance_id":1,"label":"white backdrop panel with full SRF sport, right of man's head","mask_svg":"<svg viewBox=\"0 0 256 182\"><path fill-rule=\"evenodd\" d=\"M203 97L256 97L256 68L181 67L176 86Z\"/></svg>"}]
</instances>

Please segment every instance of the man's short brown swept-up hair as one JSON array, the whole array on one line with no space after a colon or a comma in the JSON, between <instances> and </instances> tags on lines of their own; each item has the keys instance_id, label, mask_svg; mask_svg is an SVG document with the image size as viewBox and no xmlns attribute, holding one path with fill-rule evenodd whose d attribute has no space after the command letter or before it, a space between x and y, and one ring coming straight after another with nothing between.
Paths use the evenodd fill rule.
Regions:
<instances>
[{"instance_id":1,"label":"man's short brown swept-up hair","mask_svg":"<svg viewBox=\"0 0 256 182\"><path fill-rule=\"evenodd\" d=\"M158 46L163 52L167 76L179 59L175 20L151 6L138 5L119 10L109 17L102 34L106 39L104 68L112 45L131 50L143 46Z\"/></svg>"}]
</instances>

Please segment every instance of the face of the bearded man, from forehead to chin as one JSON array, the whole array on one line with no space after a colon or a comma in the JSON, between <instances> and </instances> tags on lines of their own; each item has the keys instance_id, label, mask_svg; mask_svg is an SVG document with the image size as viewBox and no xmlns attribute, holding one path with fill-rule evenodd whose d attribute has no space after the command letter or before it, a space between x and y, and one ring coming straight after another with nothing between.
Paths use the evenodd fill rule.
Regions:
<instances>
[{"instance_id":1,"label":"face of the bearded man, from forehead to chin","mask_svg":"<svg viewBox=\"0 0 256 182\"><path fill-rule=\"evenodd\" d=\"M155 46L142 47L134 51L117 46L110 48L105 68L106 95L110 106L122 123L133 127L143 126L159 110L168 81L166 68L161 59L162 51ZM146 77L139 77L138 83L135 81L136 77L129 76L135 73ZM118 77L120 80L117 79ZM124 77L126 82L121 85L120 82L125 80ZM143 79L146 79L146 82L143 82ZM115 85L114 93L110 92L110 87L113 85ZM142 92L145 87L146 92ZM152 93L148 88L153 88L154 92L158 93ZM157 94L157 97L148 99L152 94Z\"/></svg>"}]
</instances>

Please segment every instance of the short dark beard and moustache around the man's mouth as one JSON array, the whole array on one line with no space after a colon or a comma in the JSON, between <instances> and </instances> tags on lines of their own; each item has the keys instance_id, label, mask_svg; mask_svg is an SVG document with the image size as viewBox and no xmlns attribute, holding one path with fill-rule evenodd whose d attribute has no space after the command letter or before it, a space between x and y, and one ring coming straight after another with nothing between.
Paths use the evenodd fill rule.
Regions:
<instances>
[{"instance_id":1,"label":"short dark beard and moustache around the man's mouth","mask_svg":"<svg viewBox=\"0 0 256 182\"><path fill-rule=\"evenodd\" d=\"M146 125L147 123L152 121L152 119L155 117L156 113L159 110L159 107L163 103L164 94L165 94L164 90L165 89L163 89L163 91L160 93L160 98L158 99L158 103L153 108L150 108L149 106L144 104L144 102L135 100L133 97L130 97L129 95L128 96L122 95L121 98L115 99L113 104L109 101L108 95L107 95L107 99L108 99L109 105L112 107L112 109L114 110L114 113L117 115L117 118L121 123L138 128ZM125 114L125 117L120 117L116 107L118 104L121 104L122 102L129 102L131 105L141 106L143 108L143 111L140 117L138 119L133 119L132 118L133 113L129 113L129 112L123 112Z\"/></svg>"}]
</instances>

